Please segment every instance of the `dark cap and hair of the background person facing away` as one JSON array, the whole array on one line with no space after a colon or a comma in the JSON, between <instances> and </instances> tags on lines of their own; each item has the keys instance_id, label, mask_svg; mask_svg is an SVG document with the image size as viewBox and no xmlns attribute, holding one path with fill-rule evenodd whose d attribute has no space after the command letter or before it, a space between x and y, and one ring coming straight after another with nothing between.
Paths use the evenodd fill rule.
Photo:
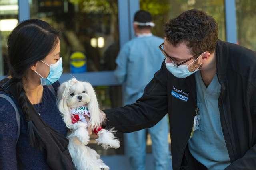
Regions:
<instances>
[{"instance_id":1,"label":"dark cap and hair of the background person facing away","mask_svg":"<svg viewBox=\"0 0 256 170\"><path fill-rule=\"evenodd\" d=\"M152 16L149 12L144 11L144 10L139 10L134 14L134 20L136 22L142 22L142 23L146 23L146 22L152 22ZM150 26L140 26L138 25L139 29L145 29L145 28L151 28Z\"/></svg>"}]
</instances>

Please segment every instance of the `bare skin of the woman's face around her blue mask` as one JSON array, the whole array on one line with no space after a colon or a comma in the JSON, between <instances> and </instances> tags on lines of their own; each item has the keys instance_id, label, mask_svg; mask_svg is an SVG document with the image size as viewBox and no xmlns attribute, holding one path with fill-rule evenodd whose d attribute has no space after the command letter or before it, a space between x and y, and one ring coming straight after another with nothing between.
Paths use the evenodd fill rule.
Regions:
<instances>
[{"instance_id":1,"label":"bare skin of the woman's face around her blue mask","mask_svg":"<svg viewBox=\"0 0 256 170\"><path fill-rule=\"evenodd\" d=\"M58 43L54 50L52 50L42 61L38 61L36 63L36 72L38 72L41 76L46 78L50 73L50 65L55 64L60 59L60 40L58 39ZM45 64L46 63L46 64ZM48 65L49 66L48 66ZM40 76L38 75L38 80L40 81Z\"/></svg>"}]
</instances>

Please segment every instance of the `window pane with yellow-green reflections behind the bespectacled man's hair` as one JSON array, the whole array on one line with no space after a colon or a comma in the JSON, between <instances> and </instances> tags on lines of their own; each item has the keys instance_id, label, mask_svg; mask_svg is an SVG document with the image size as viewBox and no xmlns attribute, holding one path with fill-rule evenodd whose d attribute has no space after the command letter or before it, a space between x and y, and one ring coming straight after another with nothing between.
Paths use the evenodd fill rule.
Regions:
<instances>
[{"instance_id":1,"label":"window pane with yellow-green reflections behind the bespectacled man's hair","mask_svg":"<svg viewBox=\"0 0 256 170\"><path fill-rule=\"evenodd\" d=\"M156 23L152 32L160 37L164 37L164 24L168 20L193 8L214 17L219 26L219 39L225 41L224 0L140 0L140 9L149 11Z\"/></svg>"}]
</instances>

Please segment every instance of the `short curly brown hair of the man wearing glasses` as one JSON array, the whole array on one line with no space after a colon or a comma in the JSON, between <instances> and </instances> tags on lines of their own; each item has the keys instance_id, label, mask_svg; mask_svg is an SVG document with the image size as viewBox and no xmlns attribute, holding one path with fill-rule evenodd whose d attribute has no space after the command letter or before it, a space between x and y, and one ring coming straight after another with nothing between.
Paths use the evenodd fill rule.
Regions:
<instances>
[{"instance_id":1,"label":"short curly brown hair of the man wearing glasses","mask_svg":"<svg viewBox=\"0 0 256 170\"><path fill-rule=\"evenodd\" d=\"M174 46L186 43L192 55L204 51L213 53L218 40L218 24L206 12L192 9L166 24L165 37Z\"/></svg>"}]
</instances>

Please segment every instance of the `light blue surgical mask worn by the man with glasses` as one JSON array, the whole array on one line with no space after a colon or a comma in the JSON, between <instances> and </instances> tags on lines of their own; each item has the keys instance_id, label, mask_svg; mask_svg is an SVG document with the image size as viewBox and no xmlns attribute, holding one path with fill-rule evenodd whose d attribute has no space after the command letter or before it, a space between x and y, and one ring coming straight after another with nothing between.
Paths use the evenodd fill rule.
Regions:
<instances>
[{"instance_id":1,"label":"light blue surgical mask worn by the man with glasses","mask_svg":"<svg viewBox=\"0 0 256 170\"><path fill-rule=\"evenodd\" d=\"M193 61L192 63L194 63L195 61ZM190 64L192 64L192 63L190 63ZM200 63L198 68L196 68L196 70L194 70L193 72L190 72L189 69L188 69L190 64L188 64L188 65L180 65L179 67L176 67L172 63L166 63L166 59L165 59L165 66L166 66L167 70L170 73L172 73L175 77L178 77L178 78L185 78L185 77L190 76L191 74L194 74L195 72L198 71L198 68L201 66L202 63Z\"/></svg>"}]
</instances>

